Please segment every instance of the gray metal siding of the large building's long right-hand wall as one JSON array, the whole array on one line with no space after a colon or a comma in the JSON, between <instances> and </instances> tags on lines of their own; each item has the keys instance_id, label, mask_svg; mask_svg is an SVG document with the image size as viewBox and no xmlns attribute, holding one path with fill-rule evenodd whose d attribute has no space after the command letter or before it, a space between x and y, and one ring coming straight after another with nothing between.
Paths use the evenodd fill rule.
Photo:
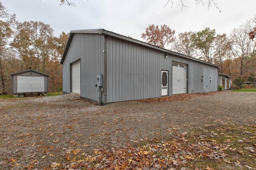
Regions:
<instances>
[{"instance_id":1,"label":"gray metal siding of the large building's long right-hand wall","mask_svg":"<svg viewBox=\"0 0 256 170\"><path fill-rule=\"evenodd\" d=\"M204 92L206 86L217 91L217 67L170 55L165 59L165 53L109 37L106 43L108 103L160 97L161 70L168 70L168 95L172 95L172 61L187 64L188 93L191 90ZM201 75L204 75L204 83L201 83Z\"/></svg>"}]
</instances>

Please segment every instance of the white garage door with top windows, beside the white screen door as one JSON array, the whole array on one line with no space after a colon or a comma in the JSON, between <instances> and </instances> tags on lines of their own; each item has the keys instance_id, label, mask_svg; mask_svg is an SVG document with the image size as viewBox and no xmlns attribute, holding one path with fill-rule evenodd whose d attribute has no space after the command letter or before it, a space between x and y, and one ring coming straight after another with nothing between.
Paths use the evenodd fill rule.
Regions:
<instances>
[{"instance_id":1,"label":"white garage door with top windows, beside the white screen door","mask_svg":"<svg viewBox=\"0 0 256 170\"><path fill-rule=\"evenodd\" d=\"M172 63L172 94L186 93L186 64Z\"/></svg>"}]
</instances>

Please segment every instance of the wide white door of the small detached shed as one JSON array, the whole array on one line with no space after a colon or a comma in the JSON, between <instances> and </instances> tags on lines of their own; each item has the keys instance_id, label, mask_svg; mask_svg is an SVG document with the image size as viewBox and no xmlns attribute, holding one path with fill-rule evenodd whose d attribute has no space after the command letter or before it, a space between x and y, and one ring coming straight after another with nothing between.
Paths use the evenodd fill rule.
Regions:
<instances>
[{"instance_id":1,"label":"wide white door of the small detached shed","mask_svg":"<svg viewBox=\"0 0 256 170\"><path fill-rule=\"evenodd\" d=\"M44 76L17 76L17 92L44 92Z\"/></svg>"}]
</instances>

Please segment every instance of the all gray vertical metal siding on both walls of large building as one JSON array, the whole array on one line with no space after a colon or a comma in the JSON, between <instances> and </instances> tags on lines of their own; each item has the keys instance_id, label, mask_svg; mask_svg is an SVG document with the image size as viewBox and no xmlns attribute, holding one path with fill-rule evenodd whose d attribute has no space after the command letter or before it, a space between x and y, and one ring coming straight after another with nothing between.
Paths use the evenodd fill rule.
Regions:
<instances>
[{"instance_id":1,"label":"all gray vertical metal siding on both walls of large building","mask_svg":"<svg viewBox=\"0 0 256 170\"><path fill-rule=\"evenodd\" d=\"M165 59L165 54L101 35L74 34L63 62L63 91L70 93L70 64L78 59L81 60L81 96L91 100L98 100L95 77L103 71L107 77L105 103L160 97L161 70L168 70L170 96L172 61L187 64L188 93L218 90L217 67L171 55ZM209 76L212 76L211 84Z\"/></svg>"}]
</instances>

